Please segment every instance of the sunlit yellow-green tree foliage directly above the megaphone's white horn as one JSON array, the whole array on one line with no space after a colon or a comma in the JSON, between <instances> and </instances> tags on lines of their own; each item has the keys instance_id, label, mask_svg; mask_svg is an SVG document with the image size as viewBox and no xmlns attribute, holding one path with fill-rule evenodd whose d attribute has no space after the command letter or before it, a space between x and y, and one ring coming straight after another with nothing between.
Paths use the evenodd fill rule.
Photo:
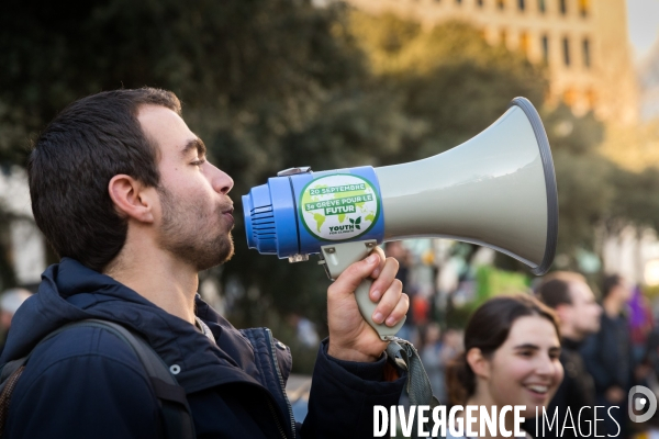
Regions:
<instances>
[{"instance_id":1,"label":"sunlit yellow-green tree foliage directly above the megaphone's white horn","mask_svg":"<svg viewBox=\"0 0 659 439\"><path fill-rule=\"evenodd\" d=\"M386 155L386 164L459 145L494 122L516 95L541 105L547 81L540 67L489 45L468 24L448 22L424 32L395 15L356 11L350 22L371 70L415 123L403 138L405 147Z\"/></svg>"}]
</instances>

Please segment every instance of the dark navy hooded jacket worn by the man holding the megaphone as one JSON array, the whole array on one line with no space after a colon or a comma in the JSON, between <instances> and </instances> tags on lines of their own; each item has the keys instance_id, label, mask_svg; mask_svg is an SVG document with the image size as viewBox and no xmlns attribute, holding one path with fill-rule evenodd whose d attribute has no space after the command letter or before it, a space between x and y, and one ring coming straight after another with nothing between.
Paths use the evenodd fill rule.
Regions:
<instances>
[{"instance_id":1,"label":"dark navy hooded jacket worn by the man holding the megaphone","mask_svg":"<svg viewBox=\"0 0 659 439\"><path fill-rule=\"evenodd\" d=\"M0 363L29 353L69 322L101 318L141 334L185 389L200 438L367 438L372 406L395 405L404 378L377 363L335 360L321 345L309 415L295 425L283 387L290 351L269 329L237 330L199 296L216 345L113 279L63 259L12 322ZM276 358L275 358L276 357ZM174 368L176 370L177 368ZM5 438L159 438L157 399L131 348L99 328L75 328L32 354L9 408Z\"/></svg>"}]
</instances>

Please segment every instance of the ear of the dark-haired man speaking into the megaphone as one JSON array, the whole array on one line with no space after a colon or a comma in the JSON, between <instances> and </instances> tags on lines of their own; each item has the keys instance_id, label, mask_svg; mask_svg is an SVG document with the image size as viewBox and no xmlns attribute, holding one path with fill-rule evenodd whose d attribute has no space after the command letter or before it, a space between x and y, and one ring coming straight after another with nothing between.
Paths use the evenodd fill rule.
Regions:
<instances>
[{"instance_id":1,"label":"ear of the dark-haired man speaking into the megaphone","mask_svg":"<svg viewBox=\"0 0 659 439\"><path fill-rule=\"evenodd\" d=\"M120 215L141 223L154 222L154 188L147 188L133 177L120 173L110 180L108 192Z\"/></svg>"}]
</instances>

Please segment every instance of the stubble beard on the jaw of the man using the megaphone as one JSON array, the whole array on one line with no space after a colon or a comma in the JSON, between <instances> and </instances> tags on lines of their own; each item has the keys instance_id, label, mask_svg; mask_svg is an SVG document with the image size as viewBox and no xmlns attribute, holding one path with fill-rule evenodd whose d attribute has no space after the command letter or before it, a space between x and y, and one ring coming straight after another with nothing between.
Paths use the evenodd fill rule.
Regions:
<instances>
[{"instance_id":1,"label":"stubble beard on the jaw of the man using the megaphone","mask_svg":"<svg viewBox=\"0 0 659 439\"><path fill-rule=\"evenodd\" d=\"M231 230L223 230L221 207L212 218L208 211L188 201L177 202L164 187L156 188L163 206L159 244L175 257L192 264L197 271L208 270L231 259L234 244Z\"/></svg>"}]
</instances>

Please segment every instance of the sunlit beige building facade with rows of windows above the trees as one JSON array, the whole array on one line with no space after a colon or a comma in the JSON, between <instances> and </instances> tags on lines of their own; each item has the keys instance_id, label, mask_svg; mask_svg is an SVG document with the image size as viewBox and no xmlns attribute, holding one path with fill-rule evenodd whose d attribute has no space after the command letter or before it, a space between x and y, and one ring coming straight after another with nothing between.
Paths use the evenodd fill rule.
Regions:
<instances>
[{"instance_id":1,"label":"sunlit beige building facade with rows of windows above the trees","mask_svg":"<svg viewBox=\"0 0 659 439\"><path fill-rule=\"evenodd\" d=\"M603 121L638 120L625 0L345 0L372 14L392 12L432 26L461 20L491 44L546 63L549 101Z\"/></svg>"}]
</instances>

